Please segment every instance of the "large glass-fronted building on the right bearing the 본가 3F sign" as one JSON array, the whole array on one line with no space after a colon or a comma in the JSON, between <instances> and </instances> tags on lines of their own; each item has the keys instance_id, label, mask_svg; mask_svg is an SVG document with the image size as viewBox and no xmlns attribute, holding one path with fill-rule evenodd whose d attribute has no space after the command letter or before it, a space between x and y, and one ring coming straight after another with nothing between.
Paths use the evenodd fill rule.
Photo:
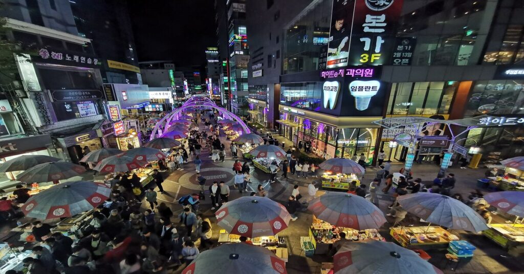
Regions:
<instances>
[{"instance_id":1,"label":"large glass-fronted building on the right bearing the \ubcf8\uac00 3F sign","mask_svg":"<svg viewBox=\"0 0 524 274\"><path fill-rule=\"evenodd\" d=\"M389 145L399 132L449 133L443 127L387 130L374 121L489 114L504 118L478 121L484 127L457 143L482 147L485 162L524 155L524 4L383 4L315 0L285 27L281 134L295 144L311 142L320 156L364 153L372 163L384 150L386 160L403 161L408 148Z\"/></svg>"}]
</instances>

